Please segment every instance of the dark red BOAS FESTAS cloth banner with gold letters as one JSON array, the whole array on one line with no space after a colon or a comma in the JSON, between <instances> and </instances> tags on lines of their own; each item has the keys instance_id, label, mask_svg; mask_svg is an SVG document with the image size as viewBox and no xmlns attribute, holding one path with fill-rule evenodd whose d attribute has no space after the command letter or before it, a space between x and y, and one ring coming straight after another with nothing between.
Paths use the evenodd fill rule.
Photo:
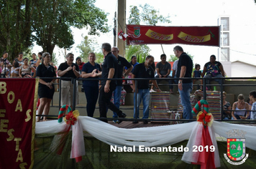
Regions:
<instances>
[{"instance_id":1,"label":"dark red BOAS FESTAS cloth banner with gold letters","mask_svg":"<svg viewBox=\"0 0 256 169\"><path fill-rule=\"evenodd\" d=\"M0 79L0 168L32 168L38 79Z\"/></svg>"}]
</instances>

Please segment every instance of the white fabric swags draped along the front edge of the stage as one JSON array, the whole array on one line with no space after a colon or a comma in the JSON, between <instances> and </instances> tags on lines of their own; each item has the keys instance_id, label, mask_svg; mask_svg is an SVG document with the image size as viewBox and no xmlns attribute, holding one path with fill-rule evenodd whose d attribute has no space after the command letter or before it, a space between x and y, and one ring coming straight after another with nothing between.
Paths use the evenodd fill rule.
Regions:
<instances>
[{"instance_id":1,"label":"white fabric swags draped along the front edge of the stage","mask_svg":"<svg viewBox=\"0 0 256 169\"><path fill-rule=\"evenodd\" d=\"M106 122L101 122L92 117L79 116L78 118L83 130L89 132L93 137L96 137L106 144L117 146L145 145L148 147L160 147L173 145L182 140L186 140L189 137L195 136L195 133L192 133L192 130L195 125L198 125L198 122L188 122L178 125L125 129L109 125ZM37 122L35 133L61 132L65 125L65 122L58 123L58 120ZM246 131L247 133L244 137L246 139L247 148L256 150L256 127L216 121L214 121L211 127L214 132L226 138L228 137L226 132L229 130L239 129ZM211 137L215 139L215 135L212 135Z\"/></svg>"}]
</instances>

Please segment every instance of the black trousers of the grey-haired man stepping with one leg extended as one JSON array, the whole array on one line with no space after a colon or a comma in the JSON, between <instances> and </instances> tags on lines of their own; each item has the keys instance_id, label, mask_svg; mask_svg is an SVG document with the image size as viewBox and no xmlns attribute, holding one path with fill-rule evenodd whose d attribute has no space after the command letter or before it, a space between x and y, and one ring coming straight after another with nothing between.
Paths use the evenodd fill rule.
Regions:
<instances>
[{"instance_id":1,"label":"black trousers of the grey-haired man stepping with one leg extended","mask_svg":"<svg viewBox=\"0 0 256 169\"><path fill-rule=\"evenodd\" d=\"M116 89L116 84L109 84L109 92L104 92L105 84L101 85L101 89L99 92L99 115L100 117L106 117L106 108L108 107L113 112L119 112L119 108L117 108L112 102L110 102L112 93ZM108 122L107 120L101 120L104 122Z\"/></svg>"}]
</instances>

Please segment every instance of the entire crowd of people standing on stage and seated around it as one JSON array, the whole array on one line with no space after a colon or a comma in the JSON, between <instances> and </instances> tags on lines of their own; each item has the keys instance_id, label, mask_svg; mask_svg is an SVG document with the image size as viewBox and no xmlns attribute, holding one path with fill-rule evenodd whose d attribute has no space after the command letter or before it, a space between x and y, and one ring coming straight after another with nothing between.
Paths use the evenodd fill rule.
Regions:
<instances>
[{"instance_id":1,"label":"entire crowd of people standing on stage and seated around it","mask_svg":"<svg viewBox=\"0 0 256 169\"><path fill-rule=\"evenodd\" d=\"M88 62L82 62L81 57L76 58L74 62L74 54L68 53L65 56L66 61L57 67L51 63L52 57L49 53L39 52L38 59L35 53L32 54L32 59L23 58L23 53L19 53L19 57L14 59L11 64L7 59L8 53L4 52L0 59L0 72L4 77L40 77L38 97L40 105L37 110L38 115L48 115L50 110L50 102L55 92L53 83L55 77L61 77L61 105L70 105L73 107L73 91L76 92L76 102L78 104L78 87L73 89L73 83L78 83L77 80L83 79L82 91L85 92L87 105L86 111L89 117L93 117L96 109L96 102L99 99L99 112L101 120L107 122L106 114L108 109L113 112L113 122L120 123L126 114L119 109L122 78L127 78L127 83L134 92L134 119L140 118L140 103L143 101L143 116L142 120L147 124L149 118L150 92L161 92L158 83L161 80L168 82L170 94L173 94L173 84L178 84L178 93L180 94L181 105L183 106L183 119L192 119L192 107L190 102L190 94L193 89L193 84L196 80L200 80L201 90L203 80L206 78L206 84L210 84L211 80L221 82L224 77L224 68L220 62L216 61L216 57L211 55L210 62L204 65L201 71L200 64L196 64L193 71L193 61L191 57L183 52L183 48L175 46L173 52L178 59L173 63L173 72L171 74L171 64L166 62L166 55L161 54L161 62L158 62L155 67L155 58L148 55L145 62L138 63L137 57L132 56L131 62L119 55L118 47L112 47L109 43L102 44L102 53L104 54L104 62L102 64L96 63L96 54L91 52L88 54ZM156 74L155 74L156 72ZM192 75L193 74L193 75ZM192 75L192 76L191 76ZM49 79L47 79L47 77ZM189 78L187 78L189 77ZM194 79L190 79L193 77ZM217 77L217 78L213 78ZM114 78L119 78L116 80ZM135 84L135 80L140 78ZM142 78L150 78L152 80L145 80ZM198 79L196 79L198 78ZM90 80L87 80L90 79ZM152 83L150 87L150 82ZM76 84L78 86L78 84ZM155 87L155 88L154 88ZM150 90L151 88L151 90ZM155 89L155 90L154 90ZM211 86L207 85L206 90L211 90ZM112 93L114 102L111 102ZM223 93L223 119L224 120L245 120L256 119L256 91L250 92L250 103L244 102L244 95L238 96L238 101L231 104L226 101L227 93ZM119 119L117 119L119 117ZM44 116L43 120L47 120ZM37 122L40 121L40 116L37 117ZM137 123L134 120L133 123Z\"/></svg>"}]
</instances>

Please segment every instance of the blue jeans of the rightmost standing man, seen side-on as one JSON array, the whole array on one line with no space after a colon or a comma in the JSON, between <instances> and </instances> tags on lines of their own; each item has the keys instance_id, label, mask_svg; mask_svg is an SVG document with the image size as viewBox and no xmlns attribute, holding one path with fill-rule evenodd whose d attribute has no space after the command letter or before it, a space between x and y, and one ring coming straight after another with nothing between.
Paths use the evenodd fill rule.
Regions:
<instances>
[{"instance_id":1,"label":"blue jeans of the rightmost standing man, seen side-on","mask_svg":"<svg viewBox=\"0 0 256 169\"><path fill-rule=\"evenodd\" d=\"M192 82L183 83L182 90L178 89L178 92L180 92L181 105L183 106L183 119L193 119L190 95L191 91Z\"/></svg>"}]
</instances>

